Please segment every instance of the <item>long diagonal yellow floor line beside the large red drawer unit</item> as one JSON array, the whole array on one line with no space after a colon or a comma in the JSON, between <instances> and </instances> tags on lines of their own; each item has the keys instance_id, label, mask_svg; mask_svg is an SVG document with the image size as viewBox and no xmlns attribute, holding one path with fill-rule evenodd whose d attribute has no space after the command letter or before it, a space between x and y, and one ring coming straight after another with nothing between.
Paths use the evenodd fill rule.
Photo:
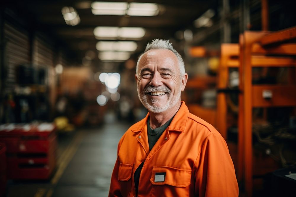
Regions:
<instances>
[{"instance_id":1,"label":"long diagonal yellow floor line beside the large red drawer unit","mask_svg":"<svg viewBox=\"0 0 296 197\"><path fill-rule=\"evenodd\" d=\"M60 157L58 169L57 169L54 177L51 180L51 183L53 185L55 185L59 181L59 179L61 178L67 165L69 164L69 162L72 160L74 154L76 153L78 146L83 139L83 136L84 136L84 132L76 133L76 135L73 139L73 142L70 144L69 148L67 148L65 150L65 152L62 154L62 156Z\"/></svg>"}]
</instances>

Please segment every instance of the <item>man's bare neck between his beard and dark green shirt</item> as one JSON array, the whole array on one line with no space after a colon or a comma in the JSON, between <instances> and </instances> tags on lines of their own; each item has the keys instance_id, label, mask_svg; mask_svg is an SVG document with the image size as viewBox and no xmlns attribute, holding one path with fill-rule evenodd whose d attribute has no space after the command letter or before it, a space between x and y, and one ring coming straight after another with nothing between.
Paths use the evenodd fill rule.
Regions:
<instances>
[{"instance_id":1,"label":"man's bare neck between his beard and dark green shirt","mask_svg":"<svg viewBox=\"0 0 296 197\"><path fill-rule=\"evenodd\" d=\"M179 105L176 107L166 110L162 113L152 113L149 112L149 124L152 129L158 128L163 126L166 122L168 122L179 110L181 106L181 101Z\"/></svg>"}]
</instances>

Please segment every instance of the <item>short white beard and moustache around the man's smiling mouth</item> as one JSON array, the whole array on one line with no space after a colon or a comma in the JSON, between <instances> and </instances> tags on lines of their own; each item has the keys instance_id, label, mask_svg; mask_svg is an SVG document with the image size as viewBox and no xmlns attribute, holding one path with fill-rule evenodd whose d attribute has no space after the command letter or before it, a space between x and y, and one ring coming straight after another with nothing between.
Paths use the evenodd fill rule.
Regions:
<instances>
[{"instance_id":1,"label":"short white beard and moustache around the man's smiling mouth","mask_svg":"<svg viewBox=\"0 0 296 197\"><path fill-rule=\"evenodd\" d=\"M170 97L171 91L170 89L168 89L167 87L149 87L150 89L153 89L152 92L168 92L167 93L167 97ZM148 88L148 89L149 89ZM145 88L147 89L147 88ZM145 93L145 89L143 91L143 93L141 94L139 91L139 87L138 87L138 97L139 100L141 101L141 103L144 105L144 107L148 110L151 111L152 113L161 113L164 112L170 108L172 108L173 106L175 106L178 101L180 100L181 97L181 84L180 84L180 88L178 90L178 95L175 95L174 97L172 97L170 100L168 100L168 102L166 102L166 104L164 106L155 106L155 105L151 105L148 100L147 100L147 96ZM163 90L165 89L165 90ZM152 104L157 104L159 102L158 99L151 99Z\"/></svg>"}]
</instances>

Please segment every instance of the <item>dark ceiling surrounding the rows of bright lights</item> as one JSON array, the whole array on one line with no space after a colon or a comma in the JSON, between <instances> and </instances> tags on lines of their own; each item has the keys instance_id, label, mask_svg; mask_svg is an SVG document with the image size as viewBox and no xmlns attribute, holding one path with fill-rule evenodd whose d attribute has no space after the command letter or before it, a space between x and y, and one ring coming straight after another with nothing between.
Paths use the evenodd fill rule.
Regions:
<instances>
[{"instance_id":1,"label":"dark ceiling surrounding the rows of bright lights","mask_svg":"<svg viewBox=\"0 0 296 197\"><path fill-rule=\"evenodd\" d=\"M116 1L156 3L161 6L161 9L157 16L141 17L94 15L90 7L92 1L9 1L4 6L29 21L32 31L33 29L41 30L58 40L58 45L67 48L71 58L77 64L81 64L81 59L85 56L86 51L91 50L97 53L95 46L98 40L93 34L95 27L144 27L146 29L145 36L141 40L135 40L138 48L131 57L136 59L139 53L144 50L147 42L155 38L174 40L178 30L191 27L193 21L205 11L218 6L215 0ZM81 19L78 25L69 26L65 23L61 13L64 6L72 6L77 10ZM94 64L100 64L97 56L93 61Z\"/></svg>"}]
</instances>

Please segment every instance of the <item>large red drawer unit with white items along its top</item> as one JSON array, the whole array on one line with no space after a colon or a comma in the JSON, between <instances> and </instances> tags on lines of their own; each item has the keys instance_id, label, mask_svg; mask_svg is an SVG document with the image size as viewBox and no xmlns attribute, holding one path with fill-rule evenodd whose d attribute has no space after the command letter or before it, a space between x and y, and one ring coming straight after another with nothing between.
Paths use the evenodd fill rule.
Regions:
<instances>
[{"instance_id":1,"label":"large red drawer unit with white items along its top","mask_svg":"<svg viewBox=\"0 0 296 197\"><path fill-rule=\"evenodd\" d=\"M1 125L0 141L7 147L7 178L50 178L57 151L52 123Z\"/></svg>"}]
</instances>

